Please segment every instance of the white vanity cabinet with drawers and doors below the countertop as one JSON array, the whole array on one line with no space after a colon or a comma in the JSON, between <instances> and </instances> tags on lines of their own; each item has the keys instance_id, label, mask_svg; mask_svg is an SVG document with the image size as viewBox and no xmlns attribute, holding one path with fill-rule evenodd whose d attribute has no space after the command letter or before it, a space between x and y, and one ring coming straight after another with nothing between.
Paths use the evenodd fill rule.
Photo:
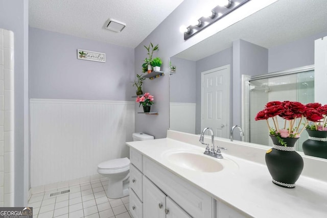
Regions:
<instances>
[{"instance_id":1,"label":"white vanity cabinet with drawers and doors below the countertop","mask_svg":"<svg viewBox=\"0 0 327 218\"><path fill-rule=\"evenodd\" d=\"M204 192L132 148L130 160L129 209L134 218L216 217L215 200Z\"/></svg>"}]
</instances>

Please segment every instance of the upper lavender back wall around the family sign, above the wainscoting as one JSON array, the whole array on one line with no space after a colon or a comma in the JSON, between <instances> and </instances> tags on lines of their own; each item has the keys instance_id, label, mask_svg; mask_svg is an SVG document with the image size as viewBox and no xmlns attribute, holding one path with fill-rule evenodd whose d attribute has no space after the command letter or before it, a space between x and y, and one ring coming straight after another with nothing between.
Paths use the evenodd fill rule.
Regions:
<instances>
[{"instance_id":1,"label":"upper lavender back wall around the family sign, above the wainscoting","mask_svg":"<svg viewBox=\"0 0 327 218\"><path fill-rule=\"evenodd\" d=\"M77 59L77 49L106 54L106 63ZM30 98L132 101L134 51L30 28Z\"/></svg>"}]
</instances>

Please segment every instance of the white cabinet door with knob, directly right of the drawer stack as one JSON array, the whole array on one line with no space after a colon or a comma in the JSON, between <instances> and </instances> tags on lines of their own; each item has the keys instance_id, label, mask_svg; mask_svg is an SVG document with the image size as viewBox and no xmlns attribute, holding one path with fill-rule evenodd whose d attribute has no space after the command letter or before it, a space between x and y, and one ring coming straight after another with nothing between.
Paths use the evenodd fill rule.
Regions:
<instances>
[{"instance_id":1,"label":"white cabinet door with knob, directly right of the drawer stack","mask_svg":"<svg viewBox=\"0 0 327 218\"><path fill-rule=\"evenodd\" d=\"M143 176L143 217L165 218L166 195Z\"/></svg>"}]
</instances>

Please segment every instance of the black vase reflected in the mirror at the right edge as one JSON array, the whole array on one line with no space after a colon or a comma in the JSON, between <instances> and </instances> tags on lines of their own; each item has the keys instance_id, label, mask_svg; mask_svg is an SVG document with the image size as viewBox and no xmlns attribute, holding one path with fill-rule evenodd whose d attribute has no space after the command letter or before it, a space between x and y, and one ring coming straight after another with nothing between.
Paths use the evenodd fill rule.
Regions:
<instances>
[{"instance_id":1,"label":"black vase reflected in the mirror at the right edge","mask_svg":"<svg viewBox=\"0 0 327 218\"><path fill-rule=\"evenodd\" d=\"M309 138L302 143L305 155L327 158L327 131L307 130Z\"/></svg>"}]
</instances>

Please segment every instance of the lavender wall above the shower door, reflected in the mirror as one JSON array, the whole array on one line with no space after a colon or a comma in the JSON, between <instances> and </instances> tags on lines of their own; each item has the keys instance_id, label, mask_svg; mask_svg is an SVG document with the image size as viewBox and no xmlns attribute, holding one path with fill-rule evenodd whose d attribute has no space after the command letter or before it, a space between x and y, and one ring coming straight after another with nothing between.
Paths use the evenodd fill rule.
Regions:
<instances>
[{"instance_id":1,"label":"lavender wall above the shower door, reflected in the mirror","mask_svg":"<svg viewBox=\"0 0 327 218\"><path fill-rule=\"evenodd\" d=\"M315 40L327 31L269 49L268 72L276 72L314 64Z\"/></svg>"}]
</instances>

